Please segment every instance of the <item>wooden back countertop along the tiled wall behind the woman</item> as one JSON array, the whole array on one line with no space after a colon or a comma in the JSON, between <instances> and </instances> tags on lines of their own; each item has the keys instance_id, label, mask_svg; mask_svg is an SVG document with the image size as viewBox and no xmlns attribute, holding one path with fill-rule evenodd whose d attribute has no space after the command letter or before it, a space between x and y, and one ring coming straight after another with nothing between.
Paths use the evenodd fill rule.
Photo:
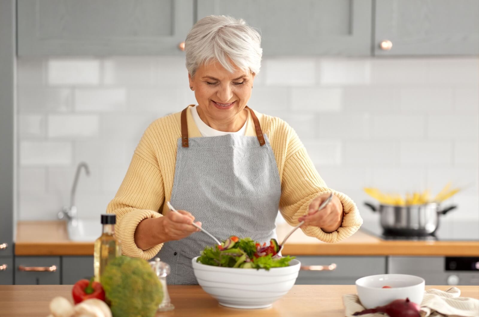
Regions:
<instances>
[{"instance_id":1,"label":"wooden back countertop along the tiled wall behind the woman","mask_svg":"<svg viewBox=\"0 0 479 317\"><path fill-rule=\"evenodd\" d=\"M280 242L291 228L277 227ZM283 254L479 256L479 241L385 241L359 230L339 243L325 243L297 230L288 239ZM63 221L22 221L17 225L15 255L93 255L93 241L68 240Z\"/></svg>"}]
</instances>

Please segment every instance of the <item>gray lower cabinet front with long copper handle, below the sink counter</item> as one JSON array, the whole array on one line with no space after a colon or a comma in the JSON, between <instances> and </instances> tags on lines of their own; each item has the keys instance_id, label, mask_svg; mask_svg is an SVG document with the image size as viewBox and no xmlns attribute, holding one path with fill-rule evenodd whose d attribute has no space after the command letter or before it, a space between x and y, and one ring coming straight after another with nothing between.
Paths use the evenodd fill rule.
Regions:
<instances>
[{"instance_id":1,"label":"gray lower cabinet front with long copper handle, below the sink counter","mask_svg":"<svg viewBox=\"0 0 479 317\"><path fill-rule=\"evenodd\" d=\"M60 257L15 257L15 284L60 284Z\"/></svg>"}]
</instances>

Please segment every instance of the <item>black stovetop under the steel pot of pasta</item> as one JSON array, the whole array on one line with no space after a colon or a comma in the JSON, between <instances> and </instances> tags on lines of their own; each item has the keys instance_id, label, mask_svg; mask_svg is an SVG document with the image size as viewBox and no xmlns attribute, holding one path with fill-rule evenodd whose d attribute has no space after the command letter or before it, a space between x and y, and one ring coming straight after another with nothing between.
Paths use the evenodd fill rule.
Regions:
<instances>
[{"instance_id":1,"label":"black stovetop under the steel pot of pasta","mask_svg":"<svg viewBox=\"0 0 479 317\"><path fill-rule=\"evenodd\" d=\"M433 235L424 237L390 235L384 232L379 219L365 222L361 229L384 240L479 241L479 221L442 221Z\"/></svg>"}]
</instances>

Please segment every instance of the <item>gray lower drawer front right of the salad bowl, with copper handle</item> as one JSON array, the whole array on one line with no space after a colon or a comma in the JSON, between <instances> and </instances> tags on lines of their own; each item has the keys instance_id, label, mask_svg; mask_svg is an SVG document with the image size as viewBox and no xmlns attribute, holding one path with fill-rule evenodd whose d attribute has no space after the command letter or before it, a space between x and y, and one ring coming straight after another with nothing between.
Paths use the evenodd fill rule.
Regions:
<instances>
[{"instance_id":1,"label":"gray lower drawer front right of the salad bowl, with copper handle","mask_svg":"<svg viewBox=\"0 0 479 317\"><path fill-rule=\"evenodd\" d=\"M385 274L386 257L298 256L301 266L336 264L333 271L300 270L296 284L354 285L363 276Z\"/></svg>"}]
</instances>

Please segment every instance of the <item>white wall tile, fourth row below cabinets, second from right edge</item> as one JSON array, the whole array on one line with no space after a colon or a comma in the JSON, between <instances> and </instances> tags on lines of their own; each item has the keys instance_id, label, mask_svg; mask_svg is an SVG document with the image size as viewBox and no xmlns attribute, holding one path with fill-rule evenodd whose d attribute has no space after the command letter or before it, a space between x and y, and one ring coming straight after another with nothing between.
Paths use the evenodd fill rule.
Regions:
<instances>
[{"instance_id":1,"label":"white wall tile, fourth row below cabinets, second from right edge","mask_svg":"<svg viewBox=\"0 0 479 317\"><path fill-rule=\"evenodd\" d=\"M401 166L450 166L451 142L401 142Z\"/></svg>"}]
</instances>

